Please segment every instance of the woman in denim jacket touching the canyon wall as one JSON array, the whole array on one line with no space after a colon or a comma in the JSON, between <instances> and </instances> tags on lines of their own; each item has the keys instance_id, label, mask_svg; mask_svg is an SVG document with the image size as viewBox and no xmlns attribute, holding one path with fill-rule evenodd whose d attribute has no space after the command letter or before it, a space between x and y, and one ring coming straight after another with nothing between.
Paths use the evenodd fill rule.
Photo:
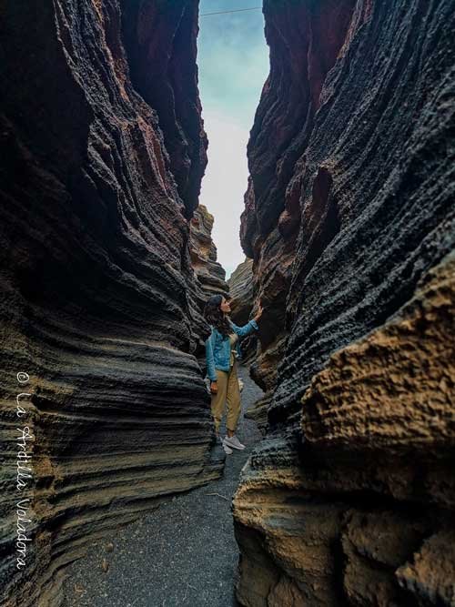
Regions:
<instances>
[{"instance_id":1,"label":"woman in denim jacket touching the canyon wall","mask_svg":"<svg viewBox=\"0 0 455 607\"><path fill-rule=\"evenodd\" d=\"M207 377L210 379L212 395L211 410L218 437L225 403L227 403L227 436L222 443L224 450L232 453L232 447L245 449L245 445L242 445L236 436L241 411L236 362L240 356L238 338L258 330L258 319L262 315L262 308L259 306L258 314L244 327L235 325L227 316L229 312L229 302L222 295L213 295L209 298L204 310L204 316L212 326L212 333L206 341Z\"/></svg>"}]
</instances>

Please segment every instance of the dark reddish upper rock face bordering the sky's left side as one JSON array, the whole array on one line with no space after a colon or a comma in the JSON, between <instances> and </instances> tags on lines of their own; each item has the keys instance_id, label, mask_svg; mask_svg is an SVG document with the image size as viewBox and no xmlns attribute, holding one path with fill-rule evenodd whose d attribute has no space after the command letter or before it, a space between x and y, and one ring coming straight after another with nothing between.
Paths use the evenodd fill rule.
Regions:
<instances>
[{"instance_id":1,"label":"dark reddish upper rock face bordering the sky's left side","mask_svg":"<svg viewBox=\"0 0 455 607\"><path fill-rule=\"evenodd\" d=\"M207 137L197 89L197 6L194 0L122 1L124 44L136 91L159 116L159 126L192 217L207 165Z\"/></svg>"}]
</instances>

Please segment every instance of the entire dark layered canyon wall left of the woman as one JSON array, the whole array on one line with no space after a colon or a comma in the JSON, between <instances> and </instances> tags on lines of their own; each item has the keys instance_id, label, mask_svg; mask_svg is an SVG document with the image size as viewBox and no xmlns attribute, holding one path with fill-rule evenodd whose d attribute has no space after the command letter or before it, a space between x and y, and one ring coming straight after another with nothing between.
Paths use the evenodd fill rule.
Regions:
<instances>
[{"instance_id":1,"label":"entire dark layered canyon wall left of the woman","mask_svg":"<svg viewBox=\"0 0 455 607\"><path fill-rule=\"evenodd\" d=\"M196 36L197 0L2 9L2 604L59 604L87 541L220 474L188 247L206 163ZM24 424L33 479L16 491Z\"/></svg>"}]
</instances>

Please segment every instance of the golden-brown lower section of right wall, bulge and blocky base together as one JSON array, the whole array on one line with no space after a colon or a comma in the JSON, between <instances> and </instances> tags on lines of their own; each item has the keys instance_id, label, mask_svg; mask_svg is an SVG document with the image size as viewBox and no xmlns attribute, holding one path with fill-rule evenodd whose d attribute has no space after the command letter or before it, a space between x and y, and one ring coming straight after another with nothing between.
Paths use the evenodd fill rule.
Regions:
<instances>
[{"instance_id":1,"label":"golden-brown lower section of right wall, bulge and blocky base together","mask_svg":"<svg viewBox=\"0 0 455 607\"><path fill-rule=\"evenodd\" d=\"M454 312L452 255L329 359L301 432L268 429L234 500L239 602L453 604Z\"/></svg>"}]
</instances>

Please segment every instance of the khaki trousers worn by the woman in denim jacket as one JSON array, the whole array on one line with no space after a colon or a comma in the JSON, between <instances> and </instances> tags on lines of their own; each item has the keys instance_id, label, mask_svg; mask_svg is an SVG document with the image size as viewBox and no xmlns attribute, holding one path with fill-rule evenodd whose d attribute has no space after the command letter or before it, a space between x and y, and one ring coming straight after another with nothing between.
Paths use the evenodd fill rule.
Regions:
<instances>
[{"instance_id":1,"label":"khaki trousers worn by the woman in denim jacket","mask_svg":"<svg viewBox=\"0 0 455 607\"><path fill-rule=\"evenodd\" d=\"M219 431L221 419L225 412L225 403L227 403L227 430L236 431L238 418L240 416L240 389L238 388L237 362L230 368L230 371L217 370L217 394L212 394L211 408L215 420L215 428Z\"/></svg>"}]
</instances>

